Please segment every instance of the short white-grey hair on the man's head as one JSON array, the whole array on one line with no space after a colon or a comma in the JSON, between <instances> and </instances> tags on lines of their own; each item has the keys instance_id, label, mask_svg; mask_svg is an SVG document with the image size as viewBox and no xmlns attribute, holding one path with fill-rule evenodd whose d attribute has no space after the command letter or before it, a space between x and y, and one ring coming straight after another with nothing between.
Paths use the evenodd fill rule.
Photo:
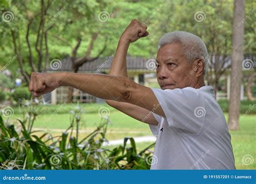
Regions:
<instances>
[{"instance_id":1,"label":"short white-grey hair on the man's head","mask_svg":"<svg viewBox=\"0 0 256 184\"><path fill-rule=\"evenodd\" d=\"M207 72L208 52L204 41L198 36L185 31L174 31L165 33L159 39L158 49L166 44L180 43L186 60L192 63L196 59L203 59L205 62L203 75Z\"/></svg>"}]
</instances>

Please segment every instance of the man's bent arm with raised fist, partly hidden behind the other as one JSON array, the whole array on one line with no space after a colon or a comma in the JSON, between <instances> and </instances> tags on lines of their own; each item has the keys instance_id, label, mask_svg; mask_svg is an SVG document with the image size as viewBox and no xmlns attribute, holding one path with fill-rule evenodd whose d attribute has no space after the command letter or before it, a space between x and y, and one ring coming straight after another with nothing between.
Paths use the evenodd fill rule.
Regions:
<instances>
[{"instance_id":1,"label":"man's bent arm with raised fist, partly hidden behind the other","mask_svg":"<svg viewBox=\"0 0 256 184\"><path fill-rule=\"evenodd\" d=\"M128 48L130 43L138 40L141 37L146 37L149 35L149 32L147 32L146 29L147 27L142 25L142 23L139 23L138 20L133 19L131 21L130 25L125 29L124 33L119 39L117 51L111 63L110 75L127 77L126 56ZM113 100L106 100L106 103L111 107L124 112L124 114L137 119L138 121L153 125L158 124L152 115L152 112L139 107L138 105ZM145 117L147 118L145 119Z\"/></svg>"}]
</instances>

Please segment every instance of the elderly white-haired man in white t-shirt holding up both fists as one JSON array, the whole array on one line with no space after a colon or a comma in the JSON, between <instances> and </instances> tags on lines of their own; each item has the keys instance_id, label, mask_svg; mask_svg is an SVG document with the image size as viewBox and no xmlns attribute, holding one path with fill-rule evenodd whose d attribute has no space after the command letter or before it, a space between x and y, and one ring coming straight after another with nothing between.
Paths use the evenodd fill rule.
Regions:
<instances>
[{"instance_id":1,"label":"elderly white-haired man in white t-shirt holding up both fists","mask_svg":"<svg viewBox=\"0 0 256 184\"><path fill-rule=\"evenodd\" d=\"M35 96L70 86L104 98L112 107L149 124L157 135L151 169L235 169L231 136L212 86L205 86L207 48L194 34L175 31L159 40L157 81L161 89L127 77L130 43L147 26L132 20L120 37L110 74L32 73Z\"/></svg>"}]
</instances>

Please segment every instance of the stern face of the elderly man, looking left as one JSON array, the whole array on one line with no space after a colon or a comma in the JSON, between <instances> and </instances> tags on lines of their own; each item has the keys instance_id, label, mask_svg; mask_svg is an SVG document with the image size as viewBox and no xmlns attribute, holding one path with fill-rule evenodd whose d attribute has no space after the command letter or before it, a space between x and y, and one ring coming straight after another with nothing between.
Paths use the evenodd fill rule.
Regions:
<instances>
[{"instance_id":1,"label":"stern face of the elderly man, looking left","mask_svg":"<svg viewBox=\"0 0 256 184\"><path fill-rule=\"evenodd\" d=\"M190 87L194 82L180 44L166 44L157 53L157 81L161 89Z\"/></svg>"}]
</instances>

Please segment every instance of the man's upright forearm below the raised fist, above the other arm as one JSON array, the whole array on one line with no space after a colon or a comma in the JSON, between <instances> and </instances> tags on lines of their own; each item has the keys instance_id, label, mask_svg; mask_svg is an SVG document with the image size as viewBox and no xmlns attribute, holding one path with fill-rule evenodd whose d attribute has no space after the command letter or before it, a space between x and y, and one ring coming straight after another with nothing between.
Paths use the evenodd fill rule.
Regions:
<instances>
[{"instance_id":1,"label":"man's upright forearm below the raised fist, above the other arm","mask_svg":"<svg viewBox=\"0 0 256 184\"><path fill-rule=\"evenodd\" d=\"M116 54L111 63L110 75L127 77L126 56L129 46L129 40L125 40L121 37L118 42Z\"/></svg>"}]
</instances>

